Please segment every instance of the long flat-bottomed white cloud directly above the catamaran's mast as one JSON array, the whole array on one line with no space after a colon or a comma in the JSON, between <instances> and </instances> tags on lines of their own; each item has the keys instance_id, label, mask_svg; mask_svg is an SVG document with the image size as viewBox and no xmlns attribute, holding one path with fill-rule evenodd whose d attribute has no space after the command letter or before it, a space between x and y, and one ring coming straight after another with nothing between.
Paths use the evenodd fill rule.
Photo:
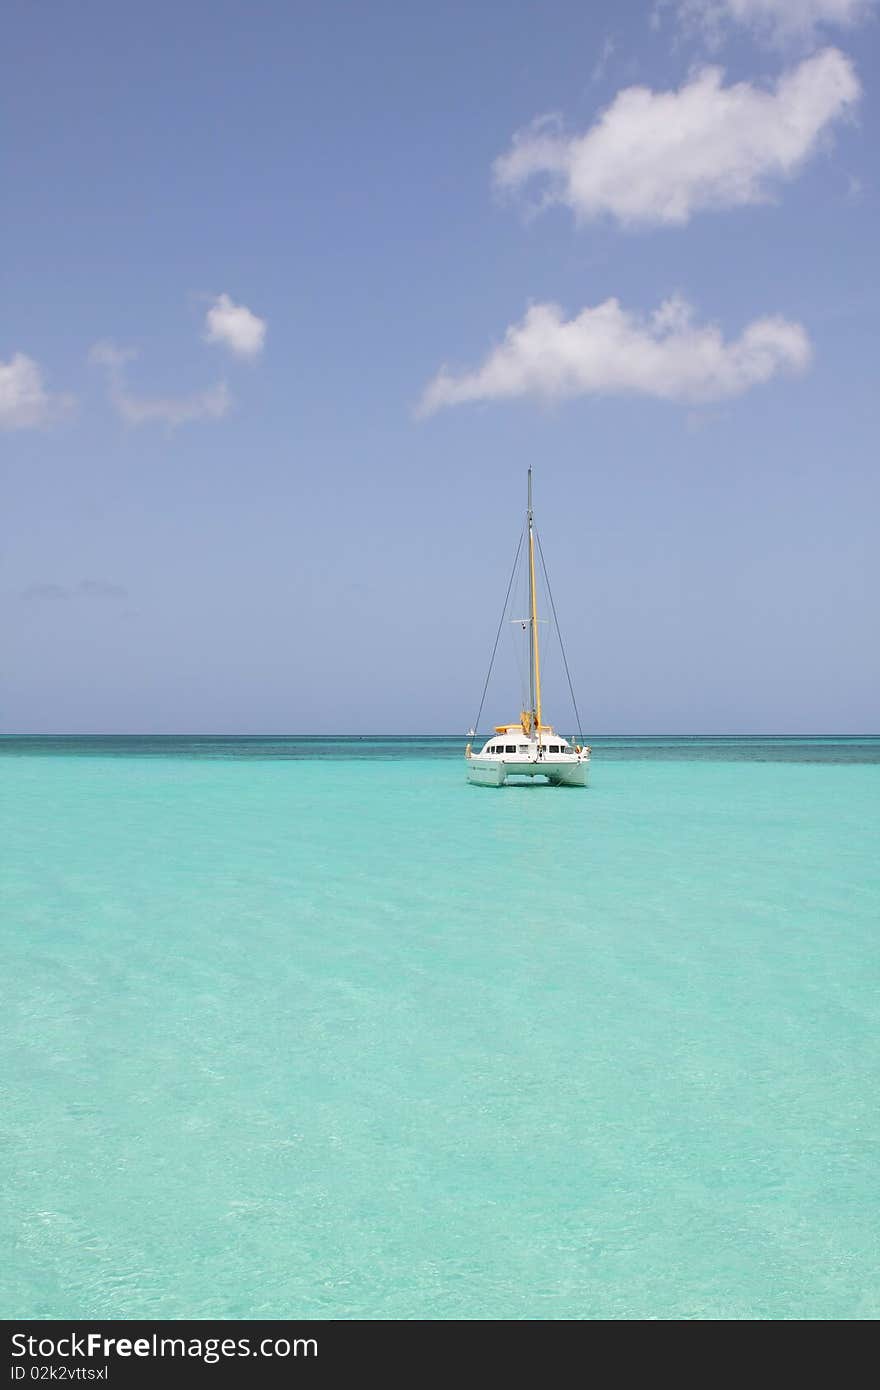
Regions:
<instances>
[{"instance_id":1,"label":"long flat-bottomed white cloud directly above the catamaran's mast","mask_svg":"<svg viewBox=\"0 0 880 1390\"><path fill-rule=\"evenodd\" d=\"M715 324L699 325L683 299L667 299L648 318L606 299L563 318L557 304L532 304L475 371L443 367L418 413L471 400L538 396L644 395L703 403L738 396L779 373L804 371L809 338L787 318L755 318L734 342Z\"/></svg>"}]
</instances>

